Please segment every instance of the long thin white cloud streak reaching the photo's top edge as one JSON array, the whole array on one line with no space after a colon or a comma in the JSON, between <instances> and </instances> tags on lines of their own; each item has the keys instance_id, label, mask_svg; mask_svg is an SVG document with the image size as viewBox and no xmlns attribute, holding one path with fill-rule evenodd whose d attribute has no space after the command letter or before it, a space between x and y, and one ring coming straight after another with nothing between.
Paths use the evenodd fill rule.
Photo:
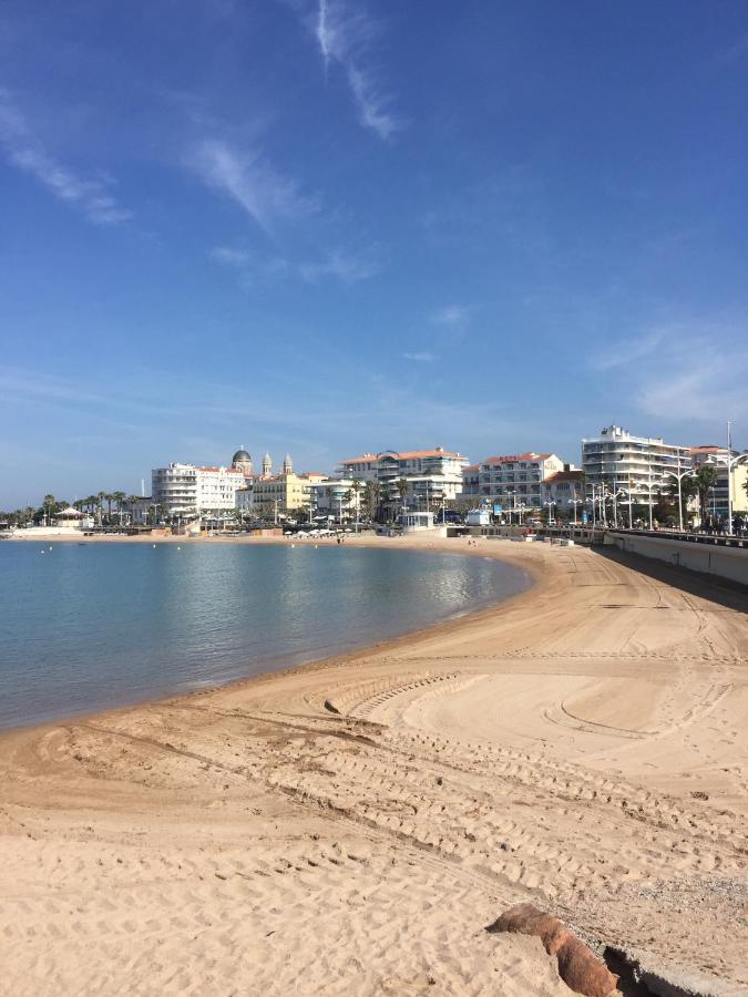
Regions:
<instances>
[{"instance_id":1,"label":"long thin white cloud streak reaching the photo's top edge","mask_svg":"<svg viewBox=\"0 0 748 997\"><path fill-rule=\"evenodd\" d=\"M404 127L392 110L392 95L382 85L375 66L372 49L381 34L381 25L361 3L350 0L317 0L307 17L327 79L330 65L337 63L350 86L360 123L388 140Z\"/></svg>"}]
</instances>

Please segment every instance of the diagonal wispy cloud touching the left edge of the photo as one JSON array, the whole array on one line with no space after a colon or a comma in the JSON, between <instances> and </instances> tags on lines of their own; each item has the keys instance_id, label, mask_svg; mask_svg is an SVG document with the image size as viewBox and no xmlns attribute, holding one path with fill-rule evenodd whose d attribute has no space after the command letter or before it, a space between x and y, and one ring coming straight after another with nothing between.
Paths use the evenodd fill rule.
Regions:
<instances>
[{"instance_id":1,"label":"diagonal wispy cloud touching the left edge of the photo","mask_svg":"<svg viewBox=\"0 0 748 997\"><path fill-rule=\"evenodd\" d=\"M96 225L115 225L132 218L111 194L111 177L83 178L44 150L11 101L0 90L0 145L10 163L34 176L55 197L82 208Z\"/></svg>"}]
</instances>

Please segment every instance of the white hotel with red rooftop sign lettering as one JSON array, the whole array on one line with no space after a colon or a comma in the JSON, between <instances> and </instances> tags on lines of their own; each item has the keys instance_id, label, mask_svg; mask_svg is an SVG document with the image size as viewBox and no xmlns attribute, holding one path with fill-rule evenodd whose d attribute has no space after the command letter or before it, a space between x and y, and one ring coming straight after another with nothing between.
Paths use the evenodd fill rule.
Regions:
<instances>
[{"instance_id":1,"label":"white hotel with red rooftop sign lettering","mask_svg":"<svg viewBox=\"0 0 748 997\"><path fill-rule=\"evenodd\" d=\"M525 453L491 456L478 469L479 496L503 510L540 510L544 501L542 483L564 470L564 462L554 453Z\"/></svg>"}]
</instances>

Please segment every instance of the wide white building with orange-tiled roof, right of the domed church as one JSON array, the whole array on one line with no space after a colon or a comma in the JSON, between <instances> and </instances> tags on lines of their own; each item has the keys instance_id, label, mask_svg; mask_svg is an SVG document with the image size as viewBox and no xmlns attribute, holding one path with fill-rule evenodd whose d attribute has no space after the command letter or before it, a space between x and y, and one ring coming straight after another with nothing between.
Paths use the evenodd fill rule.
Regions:
<instances>
[{"instance_id":1,"label":"wide white building with orange-tiled roof, right of the domed church","mask_svg":"<svg viewBox=\"0 0 748 997\"><path fill-rule=\"evenodd\" d=\"M469 461L454 450L386 450L340 462L341 476L372 481L380 487L383 505L399 507L400 481L408 483L407 505L429 507L451 502L462 491L462 471Z\"/></svg>"}]
</instances>

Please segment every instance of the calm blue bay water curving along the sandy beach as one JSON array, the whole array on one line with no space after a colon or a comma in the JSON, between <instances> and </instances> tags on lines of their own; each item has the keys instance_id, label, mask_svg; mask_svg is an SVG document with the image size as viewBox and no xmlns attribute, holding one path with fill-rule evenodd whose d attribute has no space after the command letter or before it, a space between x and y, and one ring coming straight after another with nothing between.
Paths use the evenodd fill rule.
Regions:
<instances>
[{"instance_id":1,"label":"calm blue bay water curving along the sandy beach","mask_svg":"<svg viewBox=\"0 0 748 997\"><path fill-rule=\"evenodd\" d=\"M0 727L311 661L529 585L495 561L410 551L3 542Z\"/></svg>"}]
</instances>

